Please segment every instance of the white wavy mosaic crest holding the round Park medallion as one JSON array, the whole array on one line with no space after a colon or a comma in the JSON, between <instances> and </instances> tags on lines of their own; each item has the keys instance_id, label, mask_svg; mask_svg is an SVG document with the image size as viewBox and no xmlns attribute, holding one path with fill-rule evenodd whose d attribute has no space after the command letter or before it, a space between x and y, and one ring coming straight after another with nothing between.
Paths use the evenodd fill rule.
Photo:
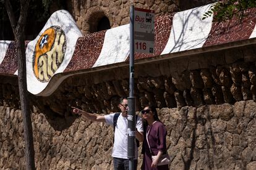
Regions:
<instances>
[{"instance_id":1,"label":"white wavy mosaic crest holding the round Park medallion","mask_svg":"<svg viewBox=\"0 0 256 170\"><path fill-rule=\"evenodd\" d=\"M55 79L57 83L53 86L48 84L56 77L54 75L67 68L74 55L77 39L81 36L69 12L58 10L51 15L26 49L27 87L30 93L47 96L58 87L59 79Z\"/></svg>"}]
</instances>

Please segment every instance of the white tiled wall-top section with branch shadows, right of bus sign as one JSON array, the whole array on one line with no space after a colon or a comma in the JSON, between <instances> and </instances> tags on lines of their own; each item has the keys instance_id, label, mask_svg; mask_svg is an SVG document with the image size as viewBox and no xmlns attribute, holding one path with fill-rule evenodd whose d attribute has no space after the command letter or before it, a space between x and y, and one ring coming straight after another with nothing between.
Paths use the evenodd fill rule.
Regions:
<instances>
[{"instance_id":1,"label":"white tiled wall-top section with branch shadows, right of bus sign","mask_svg":"<svg viewBox=\"0 0 256 170\"><path fill-rule=\"evenodd\" d=\"M208 11L208 6L199 7L174 15L168 44L170 50L167 53L187 51L202 47L211 30L211 18L202 20L204 12ZM165 51L164 51L165 54Z\"/></svg>"}]
</instances>

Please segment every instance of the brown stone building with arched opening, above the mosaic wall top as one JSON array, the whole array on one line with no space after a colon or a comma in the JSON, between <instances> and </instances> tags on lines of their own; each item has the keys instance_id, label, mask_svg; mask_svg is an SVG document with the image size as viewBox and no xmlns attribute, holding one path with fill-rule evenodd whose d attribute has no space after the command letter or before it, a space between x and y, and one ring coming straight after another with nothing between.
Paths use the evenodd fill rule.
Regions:
<instances>
[{"instance_id":1,"label":"brown stone building with arched opening, above the mosaic wall top","mask_svg":"<svg viewBox=\"0 0 256 170\"><path fill-rule=\"evenodd\" d=\"M156 16L171 14L178 10L191 9L197 6L203 6L216 0L93 0L67 1L69 12L72 14L83 34L96 31L98 22L102 17L107 17L111 28L129 23L130 5L144 9L155 10Z\"/></svg>"}]
</instances>

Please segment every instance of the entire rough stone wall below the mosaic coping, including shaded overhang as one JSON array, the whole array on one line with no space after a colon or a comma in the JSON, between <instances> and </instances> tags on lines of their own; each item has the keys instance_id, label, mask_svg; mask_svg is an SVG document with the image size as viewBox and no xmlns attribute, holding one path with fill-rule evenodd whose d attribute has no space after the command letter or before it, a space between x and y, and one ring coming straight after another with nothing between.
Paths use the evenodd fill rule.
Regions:
<instances>
[{"instance_id":1,"label":"entire rough stone wall below the mosaic coping, including shaded overhang","mask_svg":"<svg viewBox=\"0 0 256 170\"><path fill-rule=\"evenodd\" d=\"M171 169L254 169L255 45L171 54L135 64L137 110L160 108ZM164 59L164 57L166 57ZM128 66L67 78L49 97L30 95L38 169L111 169L113 128L70 113L117 111ZM17 77L0 76L0 169L25 168ZM142 155L140 155L140 159ZM141 160L139 160L141 164Z\"/></svg>"}]
</instances>

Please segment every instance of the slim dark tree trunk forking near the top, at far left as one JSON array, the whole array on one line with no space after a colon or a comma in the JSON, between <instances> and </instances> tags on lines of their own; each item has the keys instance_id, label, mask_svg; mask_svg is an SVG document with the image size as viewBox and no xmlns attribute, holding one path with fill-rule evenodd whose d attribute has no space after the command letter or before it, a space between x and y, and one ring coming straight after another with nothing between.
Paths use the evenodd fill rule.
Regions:
<instances>
[{"instance_id":1,"label":"slim dark tree trunk forking near the top, at far left","mask_svg":"<svg viewBox=\"0 0 256 170\"><path fill-rule=\"evenodd\" d=\"M25 156L26 156L26 169L35 169L35 151L33 145L33 131L30 116L29 99L27 91L27 70L26 70L26 55L25 55L25 41L24 29L27 20L27 11L29 0L20 0L20 16L18 22L15 20L14 11L9 0L5 0L7 14L14 32L17 56L18 56L18 79L19 79L19 94L20 94L20 107L23 115L24 139L25 139Z\"/></svg>"}]
</instances>

